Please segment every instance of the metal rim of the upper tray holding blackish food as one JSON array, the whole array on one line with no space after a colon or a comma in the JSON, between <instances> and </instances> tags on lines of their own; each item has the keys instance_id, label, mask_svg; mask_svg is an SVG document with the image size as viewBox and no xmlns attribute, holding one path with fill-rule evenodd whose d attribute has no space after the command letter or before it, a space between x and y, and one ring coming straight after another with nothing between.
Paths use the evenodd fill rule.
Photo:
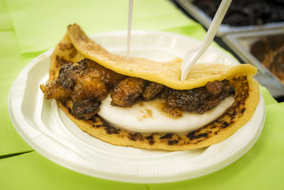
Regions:
<instances>
[{"instance_id":1,"label":"metal rim of the upper tray holding blackish food","mask_svg":"<svg viewBox=\"0 0 284 190\"><path fill-rule=\"evenodd\" d=\"M193 0L174 0L177 4L179 4L187 13L195 18L199 23L201 23L205 28L209 28L210 23L212 22L212 18L210 18L204 11L195 6L192 1ZM263 30L268 28L283 28L284 22L279 23L266 23L261 26L229 26L227 24L221 24L219 26L217 36L222 37L222 35L226 35L228 33L239 33L244 31L254 31L254 30Z\"/></svg>"}]
</instances>

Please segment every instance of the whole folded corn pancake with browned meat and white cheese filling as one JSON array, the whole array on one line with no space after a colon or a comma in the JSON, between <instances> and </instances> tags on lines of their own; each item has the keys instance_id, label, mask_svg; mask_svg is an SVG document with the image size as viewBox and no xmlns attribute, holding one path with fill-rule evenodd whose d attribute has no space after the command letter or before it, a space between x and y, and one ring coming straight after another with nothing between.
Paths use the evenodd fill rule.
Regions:
<instances>
[{"instance_id":1,"label":"whole folded corn pancake with browned meat and white cheese filling","mask_svg":"<svg viewBox=\"0 0 284 190\"><path fill-rule=\"evenodd\" d=\"M114 55L77 24L55 47L46 99L79 128L113 145L192 150L228 138L259 100L252 65L197 64L180 81L181 61Z\"/></svg>"}]
</instances>

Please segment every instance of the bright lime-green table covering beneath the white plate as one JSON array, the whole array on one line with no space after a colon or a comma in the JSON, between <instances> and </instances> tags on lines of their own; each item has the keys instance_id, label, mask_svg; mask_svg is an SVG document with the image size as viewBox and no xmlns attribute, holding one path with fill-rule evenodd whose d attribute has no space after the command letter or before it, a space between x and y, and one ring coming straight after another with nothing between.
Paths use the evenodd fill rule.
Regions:
<instances>
[{"instance_id":1,"label":"bright lime-green table covering beneath the white plate","mask_svg":"<svg viewBox=\"0 0 284 190\"><path fill-rule=\"evenodd\" d=\"M88 177L33 151L11 124L7 97L23 67L54 47L69 23L86 33L126 30L128 1L0 0L0 189L284 189L284 104L261 87L266 123L255 145L212 174L168 184L129 184ZM165 30L202 40L203 28L170 1L136 0L133 29ZM32 152L29 152L32 151ZM27 152L22 155L7 155Z\"/></svg>"}]
</instances>

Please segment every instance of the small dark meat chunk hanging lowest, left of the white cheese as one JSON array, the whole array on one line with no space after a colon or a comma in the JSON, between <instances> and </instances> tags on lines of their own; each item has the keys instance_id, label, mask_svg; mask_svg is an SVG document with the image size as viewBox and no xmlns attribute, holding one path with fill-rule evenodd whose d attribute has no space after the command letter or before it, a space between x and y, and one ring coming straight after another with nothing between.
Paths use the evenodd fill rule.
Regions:
<instances>
[{"instance_id":1,"label":"small dark meat chunk hanging lowest, left of the white cheese","mask_svg":"<svg viewBox=\"0 0 284 190\"><path fill-rule=\"evenodd\" d=\"M99 112L101 101L87 99L74 101L71 114L76 118L88 120Z\"/></svg>"}]
</instances>

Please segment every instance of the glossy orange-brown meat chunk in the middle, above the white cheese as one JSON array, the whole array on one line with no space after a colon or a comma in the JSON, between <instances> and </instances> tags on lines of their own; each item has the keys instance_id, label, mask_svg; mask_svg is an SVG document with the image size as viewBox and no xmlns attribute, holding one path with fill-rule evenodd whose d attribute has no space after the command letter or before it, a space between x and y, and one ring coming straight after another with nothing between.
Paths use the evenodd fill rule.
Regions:
<instances>
[{"instance_id":1,"label":"glossy orange-brown meat chunk in the middle, above the white cheese","mask_svg":"<svg viewBox=\"0 0 284 190\"><path fill-rule=\"evenodd\" d=\"M136 77L128 77L114 87L111 92L111 105L131 106L143 94L147 81Z\"/></svg>"}]
</instances>

